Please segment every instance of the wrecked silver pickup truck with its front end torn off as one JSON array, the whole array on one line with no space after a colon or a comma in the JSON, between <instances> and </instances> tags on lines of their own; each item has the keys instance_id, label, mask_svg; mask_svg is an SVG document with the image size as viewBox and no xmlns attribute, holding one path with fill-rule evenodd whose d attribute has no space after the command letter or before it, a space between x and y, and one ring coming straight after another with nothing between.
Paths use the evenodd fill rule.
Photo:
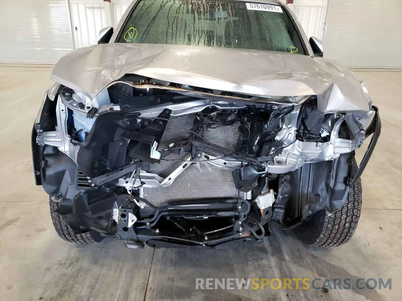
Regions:
<instances>
[{"instance_id":1,"label":"wrecked silver pickup truck with its front end torn off","mask_svg":"<svg viewBox=\"0 0 402 301\"><path fill-rule=\"evenodd\" d=\"M276 222L329 247L355 232L378 110L281 2L134 1L51 79L33 166L64 240L228 248Z\"/></svg>"}]
</instances>

